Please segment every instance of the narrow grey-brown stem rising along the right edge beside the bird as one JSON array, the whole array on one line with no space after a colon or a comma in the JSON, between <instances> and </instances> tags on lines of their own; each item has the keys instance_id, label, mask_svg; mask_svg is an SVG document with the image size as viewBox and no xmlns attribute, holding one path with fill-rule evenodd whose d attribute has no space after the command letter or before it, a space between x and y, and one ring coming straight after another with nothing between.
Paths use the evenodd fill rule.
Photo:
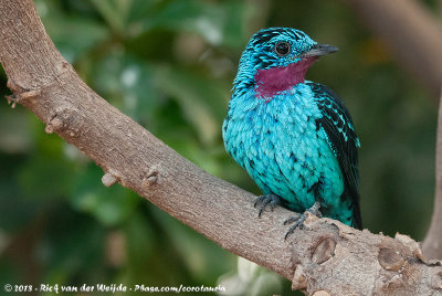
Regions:
<instances>
[{"instance_id":1,"label":"narrow grey-brown stem rising along the right edge beside the bird","mask_svg":"<svg viewBox=\"0 0 442 296\"><path fill-rule=\"evenodd\" d=\"M434 209L430 229L422 244L423 253L428 258L442 258L442 91L439 104Z\"/></svg>"}]
</instances>

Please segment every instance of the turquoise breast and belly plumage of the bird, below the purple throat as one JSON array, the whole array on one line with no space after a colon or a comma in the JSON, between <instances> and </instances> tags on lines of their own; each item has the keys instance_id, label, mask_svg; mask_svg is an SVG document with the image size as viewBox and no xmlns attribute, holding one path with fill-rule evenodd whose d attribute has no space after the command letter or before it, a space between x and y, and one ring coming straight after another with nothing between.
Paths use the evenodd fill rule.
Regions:
<instances>
[{"instance_id":1,"label":"turquoise breast and belly plumage of the bird, below the purple throat","mask_svg":"<svg viewBox=\"0 0 442 296\"><path fill-rule=\"evenodd\" d=\"M341 193L339 166L317 126L322 114L305 84L269 103L252 95L235 99L224 121L224 144L264 193L284 197L294 209L313 204L309 189L322 179L327 197Z\"/></svg>"}]
</instances>

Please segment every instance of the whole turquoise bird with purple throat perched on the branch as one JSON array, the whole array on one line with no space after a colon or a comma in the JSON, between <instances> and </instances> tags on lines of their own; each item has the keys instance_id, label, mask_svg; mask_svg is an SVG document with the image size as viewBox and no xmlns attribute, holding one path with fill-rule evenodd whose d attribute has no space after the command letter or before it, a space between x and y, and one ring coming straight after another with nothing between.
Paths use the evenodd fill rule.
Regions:
<instances>
[{"instance_id":1,"label":"whole turquoise bird with purple throat perched on the branch","mask_svg":"<svg viewBox=\"0 0 442 296\"><path fill-rule=\"evenodd\" d=\"M259 31L242 53L222 126L224 146L269 205L299 214L287 237L302 228L305 211L361 229L358 148L351 116L327 86L305 81L319 56L337 47L318 44L291 28Z\"/></svg>"}]
</instances>

